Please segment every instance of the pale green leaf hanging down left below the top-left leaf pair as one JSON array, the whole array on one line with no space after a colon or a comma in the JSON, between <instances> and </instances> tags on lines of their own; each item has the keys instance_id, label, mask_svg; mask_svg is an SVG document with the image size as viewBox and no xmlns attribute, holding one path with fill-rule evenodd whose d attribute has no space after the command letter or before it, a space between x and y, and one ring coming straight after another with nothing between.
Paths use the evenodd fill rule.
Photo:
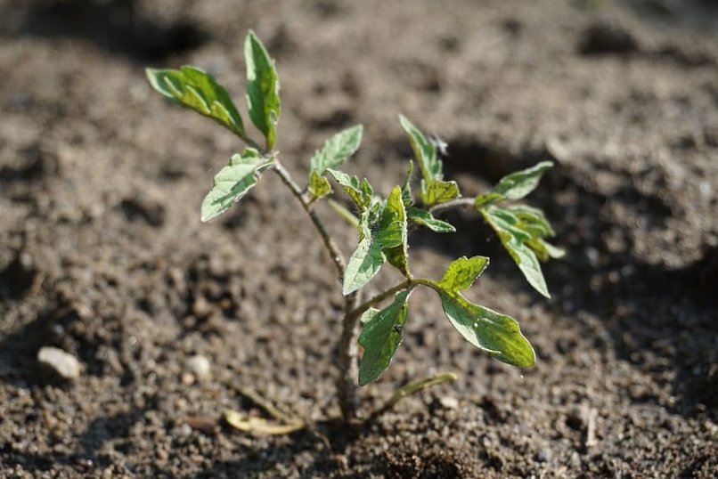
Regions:
<instances>
[{"instance_id":1,"label":"pale green leaf hanging down left below the top-left leaf pair","mask_svg":"<svg viewBox=\"0 0 718 479\"><path fill-rule=\"evenodd\" d=\"M259 175L273 162L273 158L265 158L253 148L234 155L229 166L215 175L215 184L202 201L201 221L207 222L232 207L257 184Z\"/></svg>"}]
</instances>

